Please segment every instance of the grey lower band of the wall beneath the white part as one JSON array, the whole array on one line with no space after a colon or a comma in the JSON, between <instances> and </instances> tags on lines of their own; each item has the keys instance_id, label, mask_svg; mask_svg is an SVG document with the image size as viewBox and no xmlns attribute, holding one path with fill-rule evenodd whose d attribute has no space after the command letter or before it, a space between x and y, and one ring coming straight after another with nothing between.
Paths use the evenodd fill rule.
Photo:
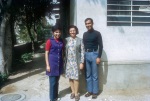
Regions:
<instances>
[{"instance_id":1,"label":"grey lower band of the wall beneath the white part","mask_svg":"<svg viewBox=\"0 0 150 101\"><path fill-rule=\"evenodd\" d=\"M150 88L150 63L108 64L99 66L100 90L134 90ZM86 92L85 74L80 78L80 91Z\"/></svg>"}]
</instances>

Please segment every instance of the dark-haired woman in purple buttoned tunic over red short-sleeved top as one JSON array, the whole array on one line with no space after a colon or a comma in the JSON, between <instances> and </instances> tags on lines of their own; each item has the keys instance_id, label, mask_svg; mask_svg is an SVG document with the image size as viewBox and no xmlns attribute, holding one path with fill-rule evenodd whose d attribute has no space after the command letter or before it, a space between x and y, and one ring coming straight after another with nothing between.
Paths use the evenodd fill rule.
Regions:
<instances>
[{"instance_id":1,"label":"dark-haired woman in purple buttoned tunic over red short-sleeved top","mask_svg":"<svg viewBox=\"0 0 150 101\"><path fill-rule=\"evenodd\" d=\"M59 78L63 69L63 41L58 26L52 27L53 37L48 39L45 47L46 75L49 76L50 101L57 101Z\"/></svg>"}]
</instances>

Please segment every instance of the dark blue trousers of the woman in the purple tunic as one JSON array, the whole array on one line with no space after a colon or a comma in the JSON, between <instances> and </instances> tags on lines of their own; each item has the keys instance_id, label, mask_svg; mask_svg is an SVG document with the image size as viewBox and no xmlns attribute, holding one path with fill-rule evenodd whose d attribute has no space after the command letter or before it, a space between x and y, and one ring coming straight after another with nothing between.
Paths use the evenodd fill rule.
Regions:
<instances>
[{"instance_id":1,"label":"dark blue trousers of the woman in the purple tunic","mask_svg":"<svg viewBox=\"0 0 150 101\"><path fill-rule=\"evenodd\" d=\"M49 76L49 97L50 101L55 101L58 98L58 86L60 76Z\"/></svg>"}]
</instances>

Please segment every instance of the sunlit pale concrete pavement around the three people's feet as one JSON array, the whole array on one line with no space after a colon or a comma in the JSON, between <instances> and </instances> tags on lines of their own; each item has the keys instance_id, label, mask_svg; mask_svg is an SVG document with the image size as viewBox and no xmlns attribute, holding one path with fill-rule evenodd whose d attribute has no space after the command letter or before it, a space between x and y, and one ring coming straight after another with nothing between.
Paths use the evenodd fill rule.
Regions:
<instances>
[{"instance_id":1,"label":"sunlit pale concrete pavement around the three people's feet","mask_svg":"<svg viewBox=\"0 0 150 101\"><path fill-rule=\"evenodd\" d=\"M2 88L2 94L20 93L25 94L23 101L49 101L48 77L45 72L29 76L23 80L8 84ZM68 80L60 78L59 86L60 101L74 101L70 99ZM80 101L150 101L150 89L143 90L114 90L103 91L97 99L85 98L81 93Z\"/></svg>"}]
</instances>

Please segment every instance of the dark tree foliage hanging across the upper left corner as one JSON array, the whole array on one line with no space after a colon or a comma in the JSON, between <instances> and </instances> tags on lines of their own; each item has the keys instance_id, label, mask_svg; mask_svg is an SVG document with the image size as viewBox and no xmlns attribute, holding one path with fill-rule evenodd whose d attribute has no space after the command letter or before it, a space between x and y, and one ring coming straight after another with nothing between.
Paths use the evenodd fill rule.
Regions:
<instances>
[{"instance_id":1,"label":"dark tree foliage hanging across the upper left corner","mask_svg":"<svg viewBox=\"0 0 150 101\"><path fill-rule=\"evenodd\" d=\"M53 0L0 0L1 19L4 13L11 15L11 23L23 23L29 37L34 42L31 29L37 31L36 25L47 13L50 15ZM12 24L13 25L13 24Z\"/></svg>"}]
</instances>

